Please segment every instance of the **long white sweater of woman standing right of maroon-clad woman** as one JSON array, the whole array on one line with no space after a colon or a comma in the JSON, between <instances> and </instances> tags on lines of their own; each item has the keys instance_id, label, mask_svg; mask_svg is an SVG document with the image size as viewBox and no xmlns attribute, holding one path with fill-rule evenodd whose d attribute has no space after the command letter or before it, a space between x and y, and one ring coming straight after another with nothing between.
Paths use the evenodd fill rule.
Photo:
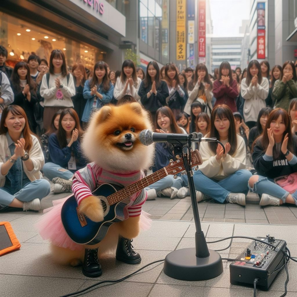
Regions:
<instances>
[{"instance_id":1,"label":"long white sweater of woman standing right of maroon-clad woman","mask_svg":"<svg viewBox=\"0 0 297 297\"><path fill-rule=\"evenodd\" d=\"M258 114L263 107L266 107L265 99L268 96L269 82L266 77L262 78L262 82L257 86L249 86L246 84L246 78L241 81L241 96L244 98L244 121L257 121Z\"/></svg>"}]
</instances>

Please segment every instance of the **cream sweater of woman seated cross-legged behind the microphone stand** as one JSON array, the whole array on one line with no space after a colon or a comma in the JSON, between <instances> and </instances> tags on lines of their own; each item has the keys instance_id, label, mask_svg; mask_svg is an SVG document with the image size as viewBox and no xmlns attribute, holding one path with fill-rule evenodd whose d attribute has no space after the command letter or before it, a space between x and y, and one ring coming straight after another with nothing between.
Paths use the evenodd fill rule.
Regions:
<instances>
[{"instance_id":1,"label":"cream sweater of woman seated cross-legged behind the microphone stand","mask_svg":"<svg viewBox=\"0 0 297 297\"><path fill-rule=\"evenodd\" d=\"M237 170L245 169L246 148L244 139L236 134L237 149L231 156L227 154L219 161L216 159L214 153L208 146L208 142L201 142L199 152L203 160L202 165L199 165L199 170L209 178L221 180L229 175L235 173ZM228 139L221 141L223 145L228 142ZM219 145L219 144L218 144Z\"/></svg>"}]
</instances>

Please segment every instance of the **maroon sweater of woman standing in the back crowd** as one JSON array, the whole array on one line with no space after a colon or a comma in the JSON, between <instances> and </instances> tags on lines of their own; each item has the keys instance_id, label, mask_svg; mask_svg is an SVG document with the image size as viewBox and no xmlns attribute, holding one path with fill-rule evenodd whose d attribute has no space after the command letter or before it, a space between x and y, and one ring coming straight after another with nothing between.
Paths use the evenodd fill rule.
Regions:
<instances>
[{"instance_id":1,"label":"maroon sweater of woman standing in the back crowd","mask_svg":"<svg viewBox=\"0 0 297 297\"><path fill-rule=\"evenodd\" d=\"M219 80L215 80L212 92L214 97L217 99L215 105L226 104L230 107L232 112L237 111L235 102L235 99L238 96L236 80L233 79L229 87L225 86Z\"/></svg>"}]
</instances>

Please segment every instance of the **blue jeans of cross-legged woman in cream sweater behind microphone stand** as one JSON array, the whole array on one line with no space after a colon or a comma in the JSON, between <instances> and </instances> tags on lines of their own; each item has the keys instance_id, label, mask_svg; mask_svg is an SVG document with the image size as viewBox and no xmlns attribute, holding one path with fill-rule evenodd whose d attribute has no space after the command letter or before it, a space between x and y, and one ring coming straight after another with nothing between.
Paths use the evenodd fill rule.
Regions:
<instances>
[{"instance_id":1,"label":"blue jeans of cross-legged woman in cream sweater behind microphone stand","mask_svg":"<svg viewBox=\"0 0 297 297\"><path fill-rule=\"evenodd\" d=\"M237 170L220 181L205 176L200 170L193 170L193 172L196 191L202 192L219 203L224 203L231 192L245 195L249 192L248 181L252 173L246 169ZM183 180L187 182L187 176Z\"/></svg>"}]
</instances>

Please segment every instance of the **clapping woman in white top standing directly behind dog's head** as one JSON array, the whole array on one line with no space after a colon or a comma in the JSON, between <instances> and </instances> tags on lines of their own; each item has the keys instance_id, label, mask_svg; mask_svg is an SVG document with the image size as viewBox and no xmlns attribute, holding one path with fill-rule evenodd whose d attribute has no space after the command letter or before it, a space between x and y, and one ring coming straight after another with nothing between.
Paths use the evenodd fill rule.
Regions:
<instances>
[{"instance_id":1,"label":"clapping woman in white top standing directly behind dog's head","mask_svg":"<svg viewBox=\"0 0 297 297\"><path fill-rule=\"evenodd\" d=\"M113 97L116 100L123 98L125 95L132 96L139 101L138 89L141 79L137 76L135 65L131 60L125 60L122 65L120 77L116 79L116 85L113 90Z\"/></svg>"}]
</instances>

